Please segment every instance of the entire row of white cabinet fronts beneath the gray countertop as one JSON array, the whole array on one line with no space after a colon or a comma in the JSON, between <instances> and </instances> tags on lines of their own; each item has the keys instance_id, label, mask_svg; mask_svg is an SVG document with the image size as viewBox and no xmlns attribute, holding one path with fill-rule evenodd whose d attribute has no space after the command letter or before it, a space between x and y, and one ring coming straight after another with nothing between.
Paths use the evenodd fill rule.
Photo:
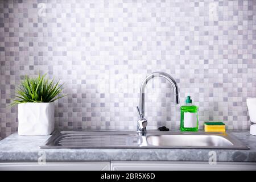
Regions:
<instances>
[{"instance_id":1,"label":"entire row of white cabinet fronts beneath the gray countertop","mask_svg":"<svg viewBox=\"0 0 256 182\"><path fill-rule=\"evenodd\" d=\"M158 170L256 170L256 163L245 162L171 162L171 161L111 161L111 162L9 162L0 163L0 171L158 171Z\"/></svg>"}]
</instances>

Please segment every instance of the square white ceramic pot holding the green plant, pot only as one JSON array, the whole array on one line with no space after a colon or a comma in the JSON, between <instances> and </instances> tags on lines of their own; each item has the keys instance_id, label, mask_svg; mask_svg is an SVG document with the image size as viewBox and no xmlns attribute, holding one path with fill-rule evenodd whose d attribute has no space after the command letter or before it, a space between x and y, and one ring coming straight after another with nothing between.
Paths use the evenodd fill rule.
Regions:
<instances>
[{"instance_id":1,"label":"square white ceramic pot holding the green plant, pot only","mask_svg":"<svg viewBox=\"0 0 256 182\"><path fill-rule=\"evenodd\" d=\"M54 103L18 104L19 135L49 135L54 130Z\"/></svg>"}]
</instances>

